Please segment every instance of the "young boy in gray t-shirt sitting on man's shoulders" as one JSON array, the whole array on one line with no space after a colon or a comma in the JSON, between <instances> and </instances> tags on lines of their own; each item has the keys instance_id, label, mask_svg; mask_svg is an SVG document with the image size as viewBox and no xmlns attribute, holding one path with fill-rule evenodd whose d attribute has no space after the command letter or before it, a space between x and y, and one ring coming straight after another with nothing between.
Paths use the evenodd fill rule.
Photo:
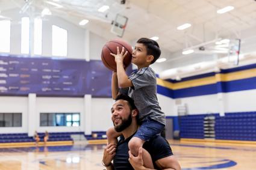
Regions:
<instances>
[{"instance_id":1,"label":"young boy in gray t-shirt sitting on man's shoulders","mask_svg":"<svg viewBox=\"0 0 256 170\"><path fill-rule=\"evenodd\" d=\"M157 100L155 73L149 67L159 58L161 50L156 41L149 38L140 38L136 43L131 61L137 65L138 70L134 71L129 77L123 68L123 58L126 54L127 51L124 52L124 48L120 52L118 47L117 54L111 53L117 65L117 71L113 72L112 75L111 90L113 99L116 99L119 93L128 94L139 110L141 126L128 144L131 153L137 156L139 148L142 147L144 142L160 133L165 126L165 115L161 112ZM116 120L114 123L122 124L122 120ZM108 144L117 144L118 136L120 136L120 133L116 132L114 128L108 129Z\"/></svg>"}]
</instances>

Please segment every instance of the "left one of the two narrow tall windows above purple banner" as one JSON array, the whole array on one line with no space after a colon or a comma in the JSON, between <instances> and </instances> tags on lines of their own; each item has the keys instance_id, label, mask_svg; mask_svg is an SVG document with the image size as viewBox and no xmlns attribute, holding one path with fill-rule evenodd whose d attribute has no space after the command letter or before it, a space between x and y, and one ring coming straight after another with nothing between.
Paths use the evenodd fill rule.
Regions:
<instances>
[{"instance_id":1,"label":"left one of the two narrow tall windows above purple banner","mask_svg":"<svg viewBox=\"0 0 256 170\"><path fill-rule=\"evenodd\" d=\"M22 17L21 19L21 53L30 52L30 19Z\"/></svg>"}]
</instances>

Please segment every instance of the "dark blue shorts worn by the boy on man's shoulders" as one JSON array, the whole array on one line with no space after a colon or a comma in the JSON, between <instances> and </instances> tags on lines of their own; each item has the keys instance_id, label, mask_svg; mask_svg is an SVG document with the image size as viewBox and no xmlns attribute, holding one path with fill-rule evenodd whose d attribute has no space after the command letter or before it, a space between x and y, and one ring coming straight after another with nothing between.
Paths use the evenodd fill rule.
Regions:
<instances>
[{"instance_id":1,"label":"dark blue shorts worn by the boy on man's shoulders","mask_svg":"<svg viewBox=\"0 0 256 170\"><path fill-rule=\"evenodd\" d=\"M146 118L142 121L139 129L135 133L135 137L142 139L143 141L148 141L153 138L155 135L158 135L164 129L164 124L158 123L151 118Z\"/></svg>"}]
</instances>

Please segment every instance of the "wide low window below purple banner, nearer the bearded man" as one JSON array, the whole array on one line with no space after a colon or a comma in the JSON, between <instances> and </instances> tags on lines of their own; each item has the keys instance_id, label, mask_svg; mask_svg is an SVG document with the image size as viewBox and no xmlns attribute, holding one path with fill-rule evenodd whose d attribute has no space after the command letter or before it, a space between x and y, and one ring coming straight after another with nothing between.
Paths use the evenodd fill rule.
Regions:
<instances>
[{"instance_id":1,"label":"wide low window below purple banner, nearer the bearded man","mask_svg":"<svg viewBox=\"0 0 256 170\"><path fill-rule=\"evenodd\" d=\"M80 113L41 113L40 126L80 126Z\"/></svg>"}]
</instances>

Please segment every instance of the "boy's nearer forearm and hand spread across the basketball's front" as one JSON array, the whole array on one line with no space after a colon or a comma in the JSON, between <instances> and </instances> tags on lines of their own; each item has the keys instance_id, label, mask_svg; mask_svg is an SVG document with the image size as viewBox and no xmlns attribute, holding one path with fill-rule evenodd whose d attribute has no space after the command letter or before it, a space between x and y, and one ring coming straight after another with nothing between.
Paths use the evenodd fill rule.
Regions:
<instances>
[{"instance_id":1,"label":"boy's nearer forearm and hand spread across the basketball's front","mask_svg":"<svg viewBox=\"0 0 256 170\"><path fill-rule=\"evenodd\" d=\"M110 53L114 56L114 60L116 61L118 85L121 88L133 86L133 83L125 73L125 68L123 68L123 58L125 58L127 53L128 51L125 52L124 47L122 47L121 53L119 52L119 47L117 47L117 54Z\"/></svg>"}]
</instances>

